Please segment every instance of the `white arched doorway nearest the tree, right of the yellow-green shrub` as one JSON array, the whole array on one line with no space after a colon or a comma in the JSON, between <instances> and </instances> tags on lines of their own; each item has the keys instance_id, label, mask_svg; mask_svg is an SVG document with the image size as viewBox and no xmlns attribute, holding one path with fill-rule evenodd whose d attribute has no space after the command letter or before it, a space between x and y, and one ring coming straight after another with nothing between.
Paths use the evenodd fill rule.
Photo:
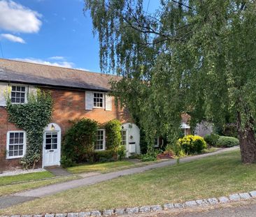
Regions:
<instances>
[{"instance_id":1,"label":"white arched doorway nearest the tree, right of the yellow-green shrub","mask_svg":"<svg viewBox=\"0 0 256 217\"><path fill-rule=\"evenodd\" d=\"M140 129L136 124L125 123L122 124L122 130L127 130L127 154L126 157L131 156L132 154L141 154L141 147L140 147ZM131 142L135 142L135 152L131 153Z\"/></svg>"}]
</instances>

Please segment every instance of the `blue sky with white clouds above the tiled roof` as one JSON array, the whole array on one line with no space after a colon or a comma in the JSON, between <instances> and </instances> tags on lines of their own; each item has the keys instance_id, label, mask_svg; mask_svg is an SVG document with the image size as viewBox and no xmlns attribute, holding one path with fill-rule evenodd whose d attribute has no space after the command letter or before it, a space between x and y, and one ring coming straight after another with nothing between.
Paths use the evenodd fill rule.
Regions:
<instances>
[{"instance_id":1,"label":"blue sky with white clouds above the tiled roof","mask_svg":"<svg viewBox=\"0 0 256 217\"><path fill-rule=\"evenodd\" d=\"M157 3L146 0L145 8ZM99 72L83 0L0 0L0 57Z\"/></svg>"}]
</instances>

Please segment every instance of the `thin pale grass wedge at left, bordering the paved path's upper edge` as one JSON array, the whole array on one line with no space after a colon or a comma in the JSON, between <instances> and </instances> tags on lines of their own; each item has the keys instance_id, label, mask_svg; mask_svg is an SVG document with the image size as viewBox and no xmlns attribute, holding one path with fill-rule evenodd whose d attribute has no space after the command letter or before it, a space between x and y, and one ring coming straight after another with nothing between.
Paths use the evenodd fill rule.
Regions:
<instances>
[{"instance_id":1,"label":"thin pale grass wedge at left, bordering the paved path's upper edge","mask_svg":"<svg viewBox=\"0 0 256 217\"><path fill-rule=\"evenodd\" d=\"M23 190L29 190L33 188L39 188L43 186L48 186L50 184L61 183L64 181L70 181L73 179L79 179L78 176L69 176L69 177L57 177L54 179L44 179L38 181L26 181L20 184L8 184L4 186L0 186L0 197L3 195L9 195L12 193L17 193Z\"/></svg>"}]
</instances>

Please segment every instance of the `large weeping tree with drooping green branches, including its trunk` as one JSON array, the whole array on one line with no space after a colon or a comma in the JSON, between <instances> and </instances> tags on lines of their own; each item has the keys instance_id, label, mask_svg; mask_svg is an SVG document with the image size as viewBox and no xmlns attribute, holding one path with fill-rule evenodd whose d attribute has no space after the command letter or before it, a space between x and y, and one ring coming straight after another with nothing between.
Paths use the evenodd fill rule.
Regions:
<instances>
[{"instance_id":1,"label":"large weeping tree with drooping green branches, including its trunk","mask_svg":"<svg viewBox=\"0 0 256 217\"><path fill-rule=\"evenodd\" d=\"M113 94L145 130L176 140L192 123L236 122L243 163L256 162L256 6L253 0L85 0L100 66L122 75Z\"/></svg>"}]
</instances>

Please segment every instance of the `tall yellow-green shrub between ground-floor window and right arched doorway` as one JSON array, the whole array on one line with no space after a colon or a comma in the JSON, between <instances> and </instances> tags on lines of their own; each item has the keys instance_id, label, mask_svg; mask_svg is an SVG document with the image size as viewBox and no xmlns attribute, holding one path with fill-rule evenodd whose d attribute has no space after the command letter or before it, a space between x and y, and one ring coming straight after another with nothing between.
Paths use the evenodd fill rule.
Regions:
<instances>
[{"instance_id":1,"label":"tall yellow-green shrub between ground-floor window and right arched doorway","mask_svg":"<svg viewBox=\"0 0 256 217\"><path fill-rule=\"evenodd\" d=\"M108 121L106 128L106 149L118 151L122 137L121 137L121 123L118 120Z\"/></svg>"}]
</instances>

